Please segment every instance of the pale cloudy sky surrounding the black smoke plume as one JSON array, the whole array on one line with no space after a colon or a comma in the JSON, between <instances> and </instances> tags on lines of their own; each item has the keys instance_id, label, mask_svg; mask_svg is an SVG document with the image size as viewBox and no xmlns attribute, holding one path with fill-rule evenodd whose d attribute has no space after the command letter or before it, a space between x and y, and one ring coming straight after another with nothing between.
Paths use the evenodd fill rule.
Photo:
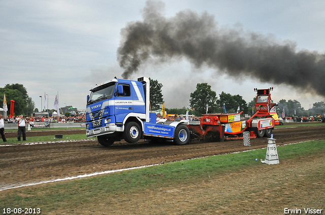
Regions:
<instances>
[{"instance_id":1,"label":"pale cloudy sky surrounding the black smoke plume","mask_svg":"<svg viewBox=\"0 0 325 215\"><path fill-rule=\"evenodd\" d=\"M162 1L165 16L191 10L214 16L221 28L241 28L277 41L290 41L299 50L325 50L324 1ZM146 1L0 1L0 87L20 83L41 108L44 93L49 108L59 105L86 106L89 89L123 69L117 61L121 29L141 21ZM298 100L305 109L324 101L311 90L285 84L228 76L215 68L194 67L186 58L165 63L146 62L131 79L148 76L163 83L167 108L189 104L196 84L207 82L217 95L222 91L241 95L246 102L253 88L274 87L272 98ZM278 77L281 78L281 77ZM315 77L317 78L317 77ZM309 93L308 93L309 92ZM44 99L44 98L43 98ZM44 100L43 100L44 101ZM47 106L47 105L46 105Z\"/></svg>"}]
</instances>

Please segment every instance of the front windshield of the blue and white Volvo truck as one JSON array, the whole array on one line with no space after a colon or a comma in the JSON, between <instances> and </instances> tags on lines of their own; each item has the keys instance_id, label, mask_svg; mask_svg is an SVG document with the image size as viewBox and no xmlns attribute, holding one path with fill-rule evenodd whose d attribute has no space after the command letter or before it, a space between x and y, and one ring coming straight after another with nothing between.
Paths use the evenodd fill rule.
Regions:
<instances>
[{"instance_id":1,"label":"front windshield of the blue and white Volvo truck","mask_svg":"<svg viewBox=\"0 0 325 215\"><path fill-rule=\"evenodd\" d=\"M107 83L101 87L95 88L91 91L87 105L95 102L110 99L113 97L115 90L115 82Z\"/></svg>"}]
</instances>

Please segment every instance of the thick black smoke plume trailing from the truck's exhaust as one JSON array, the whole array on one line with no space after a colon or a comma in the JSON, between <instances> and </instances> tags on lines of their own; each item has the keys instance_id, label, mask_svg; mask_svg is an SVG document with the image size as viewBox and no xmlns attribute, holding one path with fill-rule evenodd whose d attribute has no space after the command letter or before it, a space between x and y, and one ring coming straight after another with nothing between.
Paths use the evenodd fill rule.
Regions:
<instances>
[{"instance_id":1,"label":"thick black smoke plume trailing from the truck's exhaust","mask_svg":"<svg viewBox=\"0 0 325 215\"><path fill-rule=\"evenodd\" d=\"M233 77L285 83L325 96L324 54L297 51L293 41L219 27L208 13L187 10L166 18L163 10L163 3L148 1L143 21L128 23L121 30L117 54L123 78L149 58L164 62L186 57L196 67L205 65Z\"/></svg>"}]
</instances>

